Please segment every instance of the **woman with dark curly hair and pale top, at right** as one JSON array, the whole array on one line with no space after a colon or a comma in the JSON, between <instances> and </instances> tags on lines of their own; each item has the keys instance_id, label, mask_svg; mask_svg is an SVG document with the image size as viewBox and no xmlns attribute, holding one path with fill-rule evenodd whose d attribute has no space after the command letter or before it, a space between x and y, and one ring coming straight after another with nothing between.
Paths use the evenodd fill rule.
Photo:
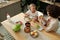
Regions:
<instances>
[{"instance_id":1,"label":"woman with dark curly hair and pale top, at right","mask_svg":"<svg viewBox=\"0 0 60 40\"><path fill-rule=\"evenodd\" d=\"M56 10L57 6L48 5L46 10L48 14L48 19L46 25L43 27L47 32L57 31L58 29L58 10Z\"/></svg>"}]
</instances>

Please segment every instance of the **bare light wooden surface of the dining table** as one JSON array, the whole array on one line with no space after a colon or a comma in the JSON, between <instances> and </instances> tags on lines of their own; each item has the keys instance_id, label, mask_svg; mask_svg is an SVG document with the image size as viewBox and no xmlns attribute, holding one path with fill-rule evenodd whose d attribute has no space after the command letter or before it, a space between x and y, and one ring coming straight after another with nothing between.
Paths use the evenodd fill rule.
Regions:
<instances>
[{"instance_id":1,"label":"bare light wooden surface of the dining table","mask_svg":"<svg viewBox=\"0 0 60 40\"><path fill-rule=\"evenodd\" d=\"M24 14L20 13L16 16L12 17L11 19L18 19L18 20L21 20L22 22L24 22ZM11 25L13 25L13 24L9 23L8 20L1 22L1 24L15 38L15 40L26 40L24 35L21 35L20 32L14 32L12 30ZM60 40L60 35L56 34L55 32L47 33L44 30L40 31L40 37L41 37L41 40ZM40 39L38 39L38 40L40 40Z\"/></svg>"}]
</instances>

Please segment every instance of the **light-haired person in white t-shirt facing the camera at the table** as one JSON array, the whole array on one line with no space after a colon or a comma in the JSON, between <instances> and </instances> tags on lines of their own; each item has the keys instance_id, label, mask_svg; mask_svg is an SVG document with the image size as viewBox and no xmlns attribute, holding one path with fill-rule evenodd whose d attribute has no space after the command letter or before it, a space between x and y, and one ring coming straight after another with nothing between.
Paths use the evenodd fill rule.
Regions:
<instances>
[{"instance_id":1,"label":"light-haired person in white t-shirt facing the camera at the table","mask_svg":"<svg viewBox=\"0 0 60 40\"><path fill-rule=\"evenodd\" d=\"M38 21L39 14L42 14L42 13L36 10L35 4L30 4L29 10L25 13L25 17L29 17L30 19L33 19L34 21Z\"/></svg>"}]
</instances>

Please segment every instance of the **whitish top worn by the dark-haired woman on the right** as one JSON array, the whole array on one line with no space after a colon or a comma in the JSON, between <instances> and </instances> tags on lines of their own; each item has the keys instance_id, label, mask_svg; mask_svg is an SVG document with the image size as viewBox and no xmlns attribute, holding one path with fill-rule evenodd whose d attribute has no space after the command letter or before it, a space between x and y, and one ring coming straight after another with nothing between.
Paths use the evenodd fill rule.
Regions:
<instances>
[{"instance_id":1,"label":"whitish top worn by the dark-haired woman on the right","mask_svg":"<svg viewBox=\"0 0 60 40\"><path fill-rule=\"evenodd\" d=\"M48 18L49 19L49 18ZM46 28L46 31L57 31L58 29L58 19L51 19L49 22L48 27Z\"/></svg>"}]
</instances>

